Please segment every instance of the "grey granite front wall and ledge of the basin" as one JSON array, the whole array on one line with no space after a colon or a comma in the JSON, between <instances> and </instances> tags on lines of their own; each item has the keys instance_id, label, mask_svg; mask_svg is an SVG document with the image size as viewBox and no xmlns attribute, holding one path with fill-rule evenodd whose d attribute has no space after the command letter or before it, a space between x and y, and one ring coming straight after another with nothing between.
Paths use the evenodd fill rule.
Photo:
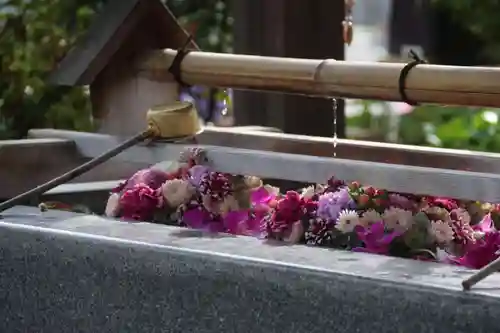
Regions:
<instances>
[{"instance_id":1,"label":"grey granite front wall and ledge of the basin","mask_svg":"<svg viewBox=\"0 0 500 333\"><path fill-rule=\"evenodd\" d=\"M500 332L500 276L448 265L15 207L2 333Z\"/></svg>"}]
</instances>

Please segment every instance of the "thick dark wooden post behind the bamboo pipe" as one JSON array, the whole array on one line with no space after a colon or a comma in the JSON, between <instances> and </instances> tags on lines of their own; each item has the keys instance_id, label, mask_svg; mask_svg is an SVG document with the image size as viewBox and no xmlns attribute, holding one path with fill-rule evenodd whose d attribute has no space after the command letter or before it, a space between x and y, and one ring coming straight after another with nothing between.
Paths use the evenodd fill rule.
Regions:
<instances>
[{"instance_id":1,"label":"thick dark wooden post behind the bamboo pipe","mask_svg":"<svg viewBox=\"0 0 500 333\"><path fill-rule=\"evenodd\" d=\"M343 0L235 0L235 53L344 59ZM264 125L286 133L333 135L331 101L305 96L237 92L237 125ZM345 136L339 100L337 134Z\"/></svg>"}]
</instances>

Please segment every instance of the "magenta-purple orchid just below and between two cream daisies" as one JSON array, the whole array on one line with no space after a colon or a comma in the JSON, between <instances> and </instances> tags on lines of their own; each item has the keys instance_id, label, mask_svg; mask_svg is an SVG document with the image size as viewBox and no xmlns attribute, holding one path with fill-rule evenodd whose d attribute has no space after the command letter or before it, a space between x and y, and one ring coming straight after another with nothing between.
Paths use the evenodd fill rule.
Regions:
<instances>
[{"instance_id":1,"label":"magenta-purple orchid just below and between two cream daisies","mask_svg":"<svg viewBox=\"0 0 500 333\"><path fill-rule=\"evenodd\" d=\"M384 230L384 223L377 222L369 227L357 225L354 229L358 238L364 243L365 247L354 248L355 252L368 252L374 254L387 254L392 241L401 236L401 232L387 233Z\"/></svg>"}]
</instances>

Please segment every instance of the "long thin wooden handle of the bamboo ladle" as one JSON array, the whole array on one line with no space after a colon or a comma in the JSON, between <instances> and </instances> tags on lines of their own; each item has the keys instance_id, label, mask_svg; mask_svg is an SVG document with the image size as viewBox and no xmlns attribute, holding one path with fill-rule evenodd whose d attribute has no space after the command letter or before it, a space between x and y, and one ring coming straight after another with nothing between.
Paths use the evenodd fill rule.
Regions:
<instances>
[{"instance_id":1,"label":"long thin wooden handle of the bamboo ladle","mask_svg":"<svg viewBox=\"0 0 500 333\"><path fill-rule=\"evenodd\" d=\"M3 212L4 210L12 208L14 206L17 206L19 204L22 204L31 197L39 196L39 195L53 189L56 186L67 183L67 182L75 179L76 177L83 175L84 173L95 168L96 166L98 166L98 165L108 161L109 159L115 157L116 155L120 154L124 150L138 144L139 142L146 140L147 138L151 137L152 134L153 133L150 129L148 129L142 133L139 133L139 134L135 135L134 137L128 139L127 141L123 142L122 144L116 146L115 148L113 148L113 149L103 153L102 155L99 155L96 158L80 165L79 167L76 167L73 170L70 170L57 178L49 180L48 182L46 182L42 185L39 185L39 186L37 186L37 187L27 191L27 192L19 194L18 196L15 196L14 198L11 198L9 200L6 200L6 201L0 203L0 212Z\"/></svg>"}]
</instances>

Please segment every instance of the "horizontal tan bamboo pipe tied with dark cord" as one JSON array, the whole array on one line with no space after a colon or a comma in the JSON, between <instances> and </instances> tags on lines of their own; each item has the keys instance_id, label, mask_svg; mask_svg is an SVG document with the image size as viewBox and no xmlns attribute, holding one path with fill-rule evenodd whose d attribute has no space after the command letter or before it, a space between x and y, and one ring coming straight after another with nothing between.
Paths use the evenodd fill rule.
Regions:
<instances>
[{"instance_id":1,"label":"horizontal tan bamboo pipe tied with dark cord","mask_svg":"<svg viewBox=\"0 0 500 333\"><path fill-rule=\"evenodd\" d=\"M154 51L138 70L170 75L176 54ZM398 80L404 65L193 51L182 61L181 75L190 85L401 101ZM500 68L417 65L407 77L406 93L420 103L500 107Z\"/></svg>"}]
</instances>

